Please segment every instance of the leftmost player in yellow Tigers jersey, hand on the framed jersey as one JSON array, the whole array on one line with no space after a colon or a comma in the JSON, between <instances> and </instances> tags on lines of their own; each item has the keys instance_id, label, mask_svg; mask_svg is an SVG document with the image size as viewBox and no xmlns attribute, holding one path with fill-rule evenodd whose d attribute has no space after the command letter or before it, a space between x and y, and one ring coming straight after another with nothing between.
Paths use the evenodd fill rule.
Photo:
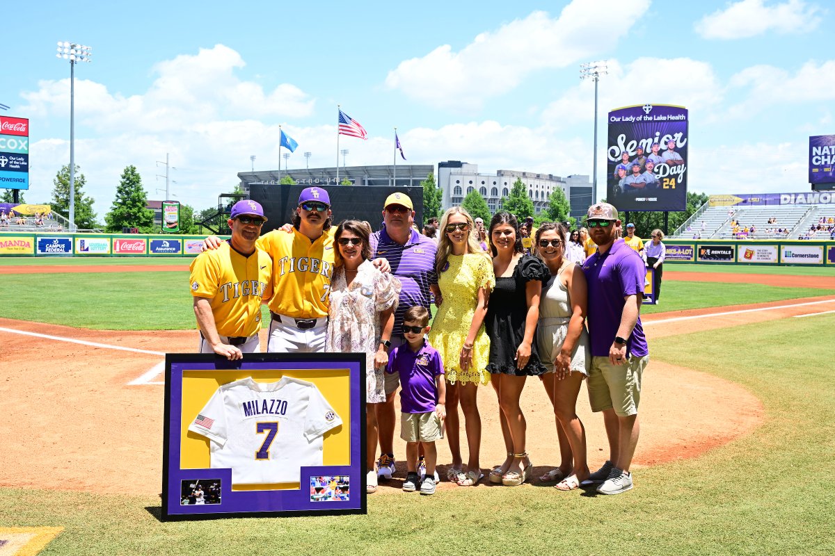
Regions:
<instances>
[{"instance_id":1,"label":"leftmost player in yellow Tigers jersey, hand on the framed jersey","mask_svg":"<svg viewBox=\"0 0 835 556\"><path fill-rule=\"evenodd\" d=\"M260 351L261 302L272 295L272 260L256 248L265 222L259 203L235 203L228 221L232 238L191 262L200 353L234 360Z\"/></svg>"}]
</instances>

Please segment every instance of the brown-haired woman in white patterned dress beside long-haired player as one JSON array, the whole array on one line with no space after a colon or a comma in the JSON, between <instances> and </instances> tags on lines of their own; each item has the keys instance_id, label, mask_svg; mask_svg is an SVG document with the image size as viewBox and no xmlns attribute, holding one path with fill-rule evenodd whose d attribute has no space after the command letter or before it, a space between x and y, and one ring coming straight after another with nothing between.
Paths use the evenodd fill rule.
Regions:
<instances>
[{"instance_id":1,"label":"brown-haired woman in white patterned dress beside long-haired player","mask_svg":"<svg viewBox=\"0 0 835 556\"><path fill-rule=\"evenodd\" d=\"M377 489L374 453L377 449L377 417L372 403L386 401L383 371L392 337L394 310L400 282L382 273L371 262L371 226L346 220L334 233L336 268L331 278L325 351L366 354L366 439L368 490Z\"/></svg>"}]
</instances>

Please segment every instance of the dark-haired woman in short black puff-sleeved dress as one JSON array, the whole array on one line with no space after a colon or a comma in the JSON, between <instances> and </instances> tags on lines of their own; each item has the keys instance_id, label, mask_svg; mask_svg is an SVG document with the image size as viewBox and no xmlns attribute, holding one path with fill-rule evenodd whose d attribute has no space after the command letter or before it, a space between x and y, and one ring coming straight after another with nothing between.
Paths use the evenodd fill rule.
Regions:
<instances>
[{"instance_id":1,"label":"dark-haired woman in short black puff-sleeved dress","mask_svg":"<svg viewBox=\"0 0 835 556\"><path fill-rule=\"evenodd\" d=\"M526 425L519 397L525 379L546 370L539 360L534 338L539 295L550 273L539 258L524 253L519 222L513 214L501 212L493 216L490 248L496 286L490 294L484 319L490 337L487 370L498 395L498 418L508 457L490 471L489 480L517 486L527 481L533 471L525 452Z\"/></svg>"}]
</instances>

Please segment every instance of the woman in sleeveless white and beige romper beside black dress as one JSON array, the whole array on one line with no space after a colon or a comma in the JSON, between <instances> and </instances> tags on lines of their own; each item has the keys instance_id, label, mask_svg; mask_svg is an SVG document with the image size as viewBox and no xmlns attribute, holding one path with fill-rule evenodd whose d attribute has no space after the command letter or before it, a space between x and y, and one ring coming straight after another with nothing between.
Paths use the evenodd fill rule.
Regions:
<instances>
[{"instance_id":1,"label":"woman in sleeveless white and beige romper beside black dress","mask_svg":"<svg viewBox=\"0 0 835 556\"><path fill-rule=\"evenodd\" d=\"M541 378L554 405L562 460L540 479L559 481L559 490L574 490L589 477L585 429L576 408L591 356L584 325L588 289L582 268L564 258L566 232L562 224L544 223L536 233L539 257L551 272L539 298L537 345L548 368Z\"/></svg>"}]
</instances>

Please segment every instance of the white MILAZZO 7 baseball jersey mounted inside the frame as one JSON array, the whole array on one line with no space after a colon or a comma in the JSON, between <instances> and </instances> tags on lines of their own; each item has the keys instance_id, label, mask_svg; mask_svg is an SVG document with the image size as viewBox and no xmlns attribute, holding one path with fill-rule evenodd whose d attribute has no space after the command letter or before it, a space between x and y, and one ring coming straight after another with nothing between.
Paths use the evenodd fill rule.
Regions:
<instances>
[{"instance_id":1,"label":"white MILAZZO 7 baseball jersey mounted inside the frame","mask_svg":"<svg viewBox=\"0 0 835 556\"><path fill-rule=\"evenodd\" d=\"M322 464L323 435L342 424L313 383L241 378L218 388L189 425L210 439L210 467L231 468L233 484L299 483Z\"/></svg>"}]
</instances>

